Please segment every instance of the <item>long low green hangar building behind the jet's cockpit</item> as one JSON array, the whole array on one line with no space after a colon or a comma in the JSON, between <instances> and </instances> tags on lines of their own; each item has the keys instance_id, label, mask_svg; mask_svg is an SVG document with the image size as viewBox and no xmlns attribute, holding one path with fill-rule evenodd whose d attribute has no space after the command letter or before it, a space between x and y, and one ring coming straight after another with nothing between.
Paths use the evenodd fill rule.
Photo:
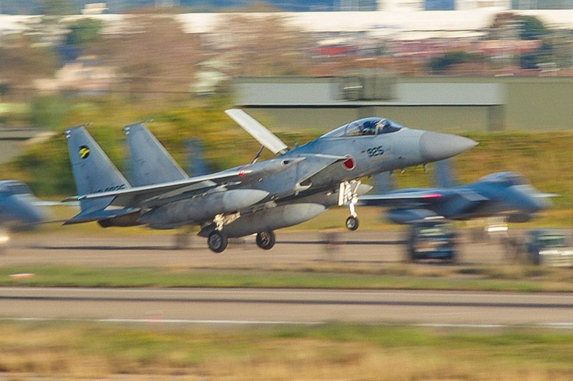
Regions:
<instances>
[{"instance_id":1,"label":"long low green hangar building behind the jet's cockpit","mask_svg":"<svg viewBox=\"0 0 573 381\"><path fill-rule=\"evenodd\" d=\"M445 131L569 130L573 78L239 78L235 103L284 129L365 116Z\"/></svg>"}]
</instances>

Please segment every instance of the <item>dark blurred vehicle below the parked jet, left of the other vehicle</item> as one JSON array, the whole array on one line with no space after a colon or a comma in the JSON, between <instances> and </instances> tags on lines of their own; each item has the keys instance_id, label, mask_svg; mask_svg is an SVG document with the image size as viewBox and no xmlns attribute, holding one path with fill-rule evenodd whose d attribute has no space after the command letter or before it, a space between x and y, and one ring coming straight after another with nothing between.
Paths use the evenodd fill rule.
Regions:
<instances>
[{"instance_id":1,"label":"dark blurred vehicle below the parked jet, left of the other vehicle","mask_svg":"<svg viewBox=\"0 0 573 381\"><path fill-rule=\"evenodd\" d=\"M424 221L410 225L407 238L407 254L410 261L419 259L443 259L453 261L455 233L444 221Z\"/></svg>"}]
</instances>

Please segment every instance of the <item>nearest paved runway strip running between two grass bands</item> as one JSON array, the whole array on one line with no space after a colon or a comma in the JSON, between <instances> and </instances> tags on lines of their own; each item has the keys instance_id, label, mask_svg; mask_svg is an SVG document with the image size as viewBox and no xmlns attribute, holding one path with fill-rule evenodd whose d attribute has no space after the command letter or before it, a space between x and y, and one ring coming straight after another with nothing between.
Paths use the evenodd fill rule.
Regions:
<instances>
[{"instance_id":1,"label":"nearest paved runway strip running between two grass bands","mask_svg":"<svg viewBox=\"0 0 573 381\"><path fill-rule=\"evenodd\" d=\"M571 293L308 289L1 288L8 320L573 328Z\"/></svg>"}]
</instances>

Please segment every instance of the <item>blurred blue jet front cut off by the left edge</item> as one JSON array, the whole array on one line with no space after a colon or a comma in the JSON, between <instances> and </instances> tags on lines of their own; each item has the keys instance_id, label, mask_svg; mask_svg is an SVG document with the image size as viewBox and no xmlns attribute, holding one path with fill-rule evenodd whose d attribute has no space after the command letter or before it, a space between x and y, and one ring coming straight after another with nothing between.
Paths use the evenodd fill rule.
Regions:
<instances>
[{"instance_id":1,"label":"blurred blue jet front cut off by the left edge","mask_svg":"<svg viewBox=\"0 0 573 381\"><path fill-rule=\"evenodd\" d=\"M38 200L25 183L0 181L0 227L22 229L41 223L46 218L41 205L44 202Z\"/></svg>"}]
</instances>

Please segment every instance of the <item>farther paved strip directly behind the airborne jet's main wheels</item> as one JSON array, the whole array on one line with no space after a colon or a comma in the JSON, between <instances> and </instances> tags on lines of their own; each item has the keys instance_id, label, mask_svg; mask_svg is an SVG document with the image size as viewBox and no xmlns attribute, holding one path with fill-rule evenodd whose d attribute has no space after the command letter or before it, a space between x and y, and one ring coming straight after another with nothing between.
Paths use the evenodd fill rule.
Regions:
<instances>
[{"instance_id":1,"label":"farther paved strip directly behind the airborne jet's main wheels","mask_svg":"<svg viewBox=\"0 0 573 381\"><path fill-rule=\"evenodd\" d=\"M16 235L0 265L82 265L93 267L277 268L335 262L353 265L387 265L406 258L404 233L396 231L344 231L338 244L326 244L320 232L277 232L271 250L255 245L254 237L231 240L227 250L215 254L204 238L189 235L185 249L174 249L173 234L121 235L120 230L95 233ZM498 242L462 242L459 263L507 263L508 254Z\"/></svg>"}]
</instances>

